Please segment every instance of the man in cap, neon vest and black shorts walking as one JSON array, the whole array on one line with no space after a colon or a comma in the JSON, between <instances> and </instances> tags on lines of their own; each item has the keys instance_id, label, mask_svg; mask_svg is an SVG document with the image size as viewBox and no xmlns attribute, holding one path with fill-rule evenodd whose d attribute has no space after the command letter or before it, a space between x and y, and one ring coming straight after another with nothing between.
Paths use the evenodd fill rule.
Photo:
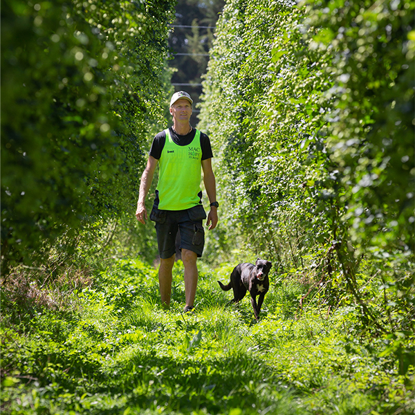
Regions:
<instances>
[{"instance_id":1,"label":"man in cap, neon vest and black shorts walking","mask_svg":"<svg viewBox=\"0 0 415 415\"><path fill-rule=\"evenodd\" d=\"M181 234L181 256L185 267L185 312L192 311L199 273L196 260L202 256L206 218L201 202L201 169L210 201L209 230L218 222L216 182L212 171L212 148L208 136L190 125L193 100L186 92L173 94L170 113L173 127L158 133L151 145L147 167L141 176L136 217L145 223L145 198L153 180L157 163L160 166L156 199L150 219L156 222L160 268L158 283L161 303L169 308L172 293L172 268L176 252L176 234Z\"/></svg>"}]
</instances>

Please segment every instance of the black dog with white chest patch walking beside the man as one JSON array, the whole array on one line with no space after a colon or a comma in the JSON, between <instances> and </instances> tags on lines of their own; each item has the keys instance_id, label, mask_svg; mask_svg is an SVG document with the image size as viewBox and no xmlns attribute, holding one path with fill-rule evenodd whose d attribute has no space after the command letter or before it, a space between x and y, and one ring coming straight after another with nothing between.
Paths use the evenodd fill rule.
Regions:
<instances>
[{"instance_id":1,"label":"black dog with white chest patch walking beside the man","mask_svg":"<svg viewBox=\"0 0 415 415\"><path fill-rule=\"evenodd\" d=\"M264 297L268 292L268 288L270 288L268 273L272 265L270 261L264 261L258 258L255 265L245 262L235 266L230 275L230 283L228 285L224 286L218 281L223 291L229 291L232 288L234 291L234 299L231 302L234 303L240 302L245 297L246 291L249 291L256 320L258 320L259 310L261 310ZM259 295L258 304L256 299L257 295Z\"/></svg>"}]
</instances>

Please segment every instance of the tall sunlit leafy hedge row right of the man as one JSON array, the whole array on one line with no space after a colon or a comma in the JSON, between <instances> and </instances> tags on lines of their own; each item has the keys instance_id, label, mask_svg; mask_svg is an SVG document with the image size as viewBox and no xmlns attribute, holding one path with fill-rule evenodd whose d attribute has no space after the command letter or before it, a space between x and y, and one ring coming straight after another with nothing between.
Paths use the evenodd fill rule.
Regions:
<instances>
[{"instance_id":1,"label":"tall sunlit leafy hedge row right of the man","mask_svg":"<svg viewBox=\"0 0 415 415\"><path fill-rule=\"evenodd\" d=\"M212 244L315 277L328 305L352 298L363 326L394 333L385 353L402 365L414 359L400 342L414 328L414 8L228 1L200 126L225 205L227 239Z\"/></svg>"}]
</instances>

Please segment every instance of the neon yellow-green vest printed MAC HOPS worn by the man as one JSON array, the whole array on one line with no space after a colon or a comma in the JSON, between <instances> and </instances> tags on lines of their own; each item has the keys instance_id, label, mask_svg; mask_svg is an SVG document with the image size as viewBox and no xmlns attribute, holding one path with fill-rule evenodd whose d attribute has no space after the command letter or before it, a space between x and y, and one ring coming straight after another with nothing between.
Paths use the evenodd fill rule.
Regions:
<instances>
[{"instance_id":1,"label":"neon yellow-green vest printed MAC HOPS worn by the man","mask_svg":"<svg viewBox=\"0 0 415 415\"><path fill-rule=\"evenodd\" d=\"M158 164L158 209L185 210L201 203L201 131L189 145L177 145L165 130L166 142Z\"/></svg>"}]
</instances>

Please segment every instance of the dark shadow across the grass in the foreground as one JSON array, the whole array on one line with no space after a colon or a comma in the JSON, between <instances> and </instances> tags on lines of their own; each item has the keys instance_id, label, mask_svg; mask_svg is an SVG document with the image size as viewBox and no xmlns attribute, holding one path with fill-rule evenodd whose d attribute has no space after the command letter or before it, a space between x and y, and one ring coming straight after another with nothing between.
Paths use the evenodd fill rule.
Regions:
<instances>
[{"instance_id":1,"label":"dark shadow across the grass in the foreground","mask_svg":"<svg viewBox=\"0 0 415 415\"><path fill-rule=\"evenodd\" d=\"M228 414L232 408L241 408L246 414L264 409L297 413L293 389L253 353L208 357L202 362L138 351L124 364L111 367L106 376L106 387L99 393L122 394L127 397L126 406L134 408L163 407L186 414L200 409Z\"/></svg>"}]
</instances>

